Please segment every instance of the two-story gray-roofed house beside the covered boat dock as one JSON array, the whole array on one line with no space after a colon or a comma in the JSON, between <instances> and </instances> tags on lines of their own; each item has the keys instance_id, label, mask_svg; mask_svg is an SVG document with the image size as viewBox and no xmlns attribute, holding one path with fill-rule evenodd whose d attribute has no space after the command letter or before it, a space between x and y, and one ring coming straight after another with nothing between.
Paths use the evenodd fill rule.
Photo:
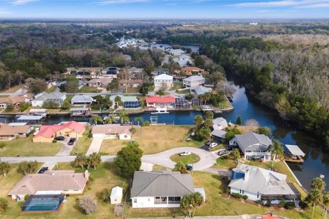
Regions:
<instances>
[{"instance_id":1,"label":"two-story gray-roofed house beside the covered boat dock","mask_svg":"<svg viewBox=\"0 0 329 219\"><path fill-rule=\"evenodd\" d=\"M230 140L230 145L239 146L245 159L263 158L265 161L271 160L271 151L269 151L271 144L272 141L269 137L251 131L242 135L235 135Z\"/></svg>"}]
</instances>

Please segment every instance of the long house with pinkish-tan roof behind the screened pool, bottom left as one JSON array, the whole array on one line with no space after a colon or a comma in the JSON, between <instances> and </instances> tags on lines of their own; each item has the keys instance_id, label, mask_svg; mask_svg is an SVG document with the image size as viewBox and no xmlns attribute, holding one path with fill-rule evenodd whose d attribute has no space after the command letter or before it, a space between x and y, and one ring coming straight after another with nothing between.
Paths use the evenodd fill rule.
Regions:
<instances>
[{"instance_id":1,"label":"long house with pinkish-tan roof behind the screened pool, bottom left","mask_svg":"<svg viewBox=\"0 0 329 219\"><path fill-rule=\"evenodd\" d=\"M34 194L82 194L89 178L89 172L74 170L47 170L43 174L27 174L9 192L17 201Z\"/></svg>"}]
</instances>

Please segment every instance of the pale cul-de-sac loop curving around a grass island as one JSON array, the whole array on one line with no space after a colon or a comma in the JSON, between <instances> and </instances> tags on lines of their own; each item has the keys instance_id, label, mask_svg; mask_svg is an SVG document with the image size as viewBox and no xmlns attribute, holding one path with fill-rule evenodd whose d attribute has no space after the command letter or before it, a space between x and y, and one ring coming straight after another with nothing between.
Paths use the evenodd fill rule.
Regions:
<instances>
[{"instance_id":1,"label":"pale cul-de-sac loop curving around a grass island","mask_svg":"<svg viewBox=\"0 0 329 219\"><path fill-rule=\"evenodd\" d=\"M199 162L193 164L194 170L205 170L216 164L217 156L203 149L191 148L191 147L182 147L170 149L168 151L156 153L153 155L143 155L142 162L147 162L150 164L158 164L161 166L166 166L168 168L174 168L175 162L171 161L169 157L183 151L190 151L195 155L200 157Z\"/></svg>"}]
</instances>

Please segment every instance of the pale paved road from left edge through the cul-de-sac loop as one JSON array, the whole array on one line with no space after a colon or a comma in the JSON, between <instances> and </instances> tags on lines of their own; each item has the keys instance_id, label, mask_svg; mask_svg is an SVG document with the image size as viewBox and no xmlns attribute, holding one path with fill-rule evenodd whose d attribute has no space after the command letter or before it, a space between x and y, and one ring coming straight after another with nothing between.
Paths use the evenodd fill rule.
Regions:
<instances>
[{"instance_id":1,"label":"pale paved road from left edge through the cul-de-sac loop","mask_svg":"<svg viewBox=\"0 0 329 219\"><path fill-rule=\"evenodd\" d=\"M95 140L95 139L94 139ZM90 146L91 148L91 146ZM96 146L95 146L96 148ZM191 147L182 147L175 148L168 151L164 151L161 153L156 153L153 155L143 155L142 162L149 164L158 164L161 166L166 166L168 168L173 168L175 166L175 162L172 162L169 157L171 155L175 155L177 153L181 153L182 151L191 151L191 153L195 153L200 157L199 162L193 164L194 170L206 170L216 164L217 155L215 153L210 153L203 149L196 149ZM88 150L88 152L91 152ZM114 159L114 155L101 156L101 160L103 162L112 162ZM10 163L20 163L23 161L37 161L42 163L49 162L73 162L75 156L53 156L53 157L1 157L2 162L10 162Z\"/></svg>"}]
</instances>

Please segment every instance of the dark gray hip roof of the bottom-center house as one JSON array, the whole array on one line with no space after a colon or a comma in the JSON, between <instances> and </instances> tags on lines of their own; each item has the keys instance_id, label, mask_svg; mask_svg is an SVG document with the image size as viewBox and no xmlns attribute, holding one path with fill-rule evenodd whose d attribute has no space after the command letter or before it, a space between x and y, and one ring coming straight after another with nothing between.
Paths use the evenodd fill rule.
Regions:
<instances>
[{"instance_id":1,"label":"dark gray hip roof of the bottom-center house","mask_svg":"<svg viewBox=\"0 0 329 219\"><path fill-rule=\"evenodd\" d=\"M185 196L194 192L191 175L180 172L136 171L131 197Z\"/></svg>"}]
</instances>

